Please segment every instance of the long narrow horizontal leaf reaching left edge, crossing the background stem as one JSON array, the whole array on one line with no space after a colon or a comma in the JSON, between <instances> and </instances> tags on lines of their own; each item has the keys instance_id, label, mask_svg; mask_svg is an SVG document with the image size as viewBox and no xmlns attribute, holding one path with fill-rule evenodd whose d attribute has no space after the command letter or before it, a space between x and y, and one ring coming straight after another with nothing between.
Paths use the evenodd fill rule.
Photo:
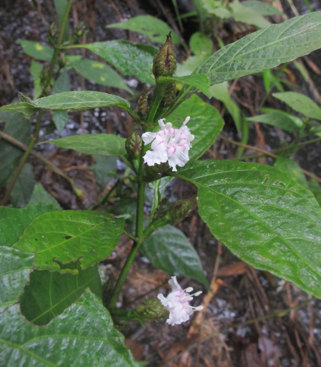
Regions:
<instances>
[{"instance_id":1,"label":"long narrow horizontal leaf reaching left edge, crossing the background stem","mask_svg":"<svg viewBox=\"0 0 321 367\"><path fill-rule=\"evenodd\" d=\"M15 103L13 105L2 106L0 110L6 112L27 112L32 113L38 109L47 110L88 110L96 107L118 106L125 109L130 115L136 116L132 106L126 99L117 95L96 92L96 91L70 91L56 93L33 101L33 105L27 102ZM31 113L31 112L30 112Z\"/></svg>"}]
</instances>

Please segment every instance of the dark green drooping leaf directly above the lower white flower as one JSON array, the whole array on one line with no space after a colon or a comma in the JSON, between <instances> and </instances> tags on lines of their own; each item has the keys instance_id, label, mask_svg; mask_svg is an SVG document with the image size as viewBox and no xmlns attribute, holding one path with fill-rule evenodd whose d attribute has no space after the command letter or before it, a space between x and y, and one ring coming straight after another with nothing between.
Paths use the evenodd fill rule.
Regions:
<instances>
[{"instance_id":1,"label":"dark green drooping leaf directly above the lower white flower","mask_svg":"<svg viewBox=\"0 0 321 367\"><path fill-rule=\"evenodd\" d=\"M156 229L140 250L155 268L192 277L209 287L198 253L180 229L171 225Z\"/></svg>"}]
</instances>

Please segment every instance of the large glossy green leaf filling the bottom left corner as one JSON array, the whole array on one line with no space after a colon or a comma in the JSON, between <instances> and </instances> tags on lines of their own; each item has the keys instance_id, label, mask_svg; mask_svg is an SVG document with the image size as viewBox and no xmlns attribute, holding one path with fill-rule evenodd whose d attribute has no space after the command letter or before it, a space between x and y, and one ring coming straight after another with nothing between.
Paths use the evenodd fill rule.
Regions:
<instances>
[{"instance_id":1,"label":"large glossy green leaf filling the bottom left corner","mask_svg":"<svg viewBox=\"0 0 321 367\"><path fill-rule=\"evenodd\" d=\"M99 298L82 298L48 326L34 327L11 306L0 318L1 366L138 367Z\"/></svg>"}]
</instances>

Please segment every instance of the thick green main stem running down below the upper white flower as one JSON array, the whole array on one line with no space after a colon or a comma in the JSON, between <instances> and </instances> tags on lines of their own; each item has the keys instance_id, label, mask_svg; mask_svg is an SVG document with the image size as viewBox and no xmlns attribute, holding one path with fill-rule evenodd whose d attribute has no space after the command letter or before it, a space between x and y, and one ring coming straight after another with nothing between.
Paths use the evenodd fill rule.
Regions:
<instances>
[{"instance_id":1,"label":"thick green main stem running down below the upper white flower","mask_svg":"<svg viewBox=\"0 0 321 367\"><path fill-rule=\"evenodd\" d=\"M115 306L122 286L125 283L126 276L129 272L130 266L134 261L134 258L139 250L140 245L144 242L144 199L145 199L145 182L141 179L143 174L143 158L140 159L139 172L138 172L138 191L137 191L137 208L136 208L136 240L133 243L133 247L130 250L125 264L119 274L115 288L112 291L110 301L107 308L112 311Z\"/></svg>"}]
</instances>

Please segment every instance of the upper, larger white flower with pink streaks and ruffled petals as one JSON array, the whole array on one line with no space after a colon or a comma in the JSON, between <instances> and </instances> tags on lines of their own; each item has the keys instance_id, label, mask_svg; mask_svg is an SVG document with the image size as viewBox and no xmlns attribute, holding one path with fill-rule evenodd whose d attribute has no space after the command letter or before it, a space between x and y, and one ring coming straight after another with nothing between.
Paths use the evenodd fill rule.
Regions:
<instances>
[{"instance_id":1,"label":"upper, larger white flower with pink streaks and ruffled petals","mask_svg":"<svg viewBox=\"0 0 321 367\"><path fill-rule=\"evenodd\" d=\"M157 132L145 132L142 139L145 144L152 142L151 149L144 155L144 163L148 166L165 163L168 161L173 171L177 171L176 165L183 167L189 160L188 151L194 135L188 130L186 124L190 117L186 117L182 127L177 129L170 122L164 123L165 119L158 120L161 130Z\"/></svg>"}]
</instances>

